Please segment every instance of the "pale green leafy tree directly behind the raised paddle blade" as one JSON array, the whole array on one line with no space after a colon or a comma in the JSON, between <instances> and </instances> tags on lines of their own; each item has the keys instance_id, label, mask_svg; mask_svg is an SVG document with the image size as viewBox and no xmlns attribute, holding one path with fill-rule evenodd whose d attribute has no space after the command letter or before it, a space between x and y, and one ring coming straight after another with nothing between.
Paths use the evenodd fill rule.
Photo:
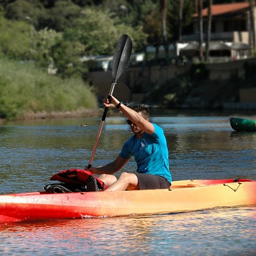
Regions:
<instances>
[{"instance_id":1,"label":"pale green leafy tree directly behind the raised paddle blade","mask_svg":"<svg viewBox=\"0 0 256 256\"><path fill-rule=\"evenodd\" d=\"M116 41L123 33L131 36L134 41L134 51L140 50L146 43L142 26L131 28L125 24L119 24L117 18L112 18L113 14L109 10L86 8L82 14L83 16L74 19L65 29L63 38L84 45L83 54L113 54Z\"/></svg>"}]
</instances>

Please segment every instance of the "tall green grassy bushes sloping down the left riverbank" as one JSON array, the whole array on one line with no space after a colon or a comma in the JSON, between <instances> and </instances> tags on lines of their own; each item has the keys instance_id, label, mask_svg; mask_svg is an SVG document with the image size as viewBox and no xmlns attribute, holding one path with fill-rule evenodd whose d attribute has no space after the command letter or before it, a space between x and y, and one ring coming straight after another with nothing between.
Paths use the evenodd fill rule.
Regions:
<instances>
[{"instance_id":1,"label":"tall green grassy bushes sloping down the left riverbank","mask_svg":"<svg viewBox=\"0 0 256 256\"><path fill-rule=\"evenodd\" d=\"M63 80L36 68L34 63L0 60L0 118L95 108L95 94L82 79Z\"/></svg>"}]
</instances>

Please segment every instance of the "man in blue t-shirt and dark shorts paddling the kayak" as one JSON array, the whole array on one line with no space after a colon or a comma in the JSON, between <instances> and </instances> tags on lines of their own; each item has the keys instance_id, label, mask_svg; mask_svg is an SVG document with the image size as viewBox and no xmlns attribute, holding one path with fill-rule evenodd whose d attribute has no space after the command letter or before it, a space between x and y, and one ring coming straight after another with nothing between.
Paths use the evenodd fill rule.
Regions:
<instances>
[{"instance_id":1,"label":"man in blue t-shirt and dark shorts paddling the kayak","mask_svg":"<svg viewBox=\"0 0 256 256\"><path fill-rule=\"evenodd\" d=\"M99 179L108 186L106 191L170 188L172 176L166 138L163 129L149 121L148 109L143 105L127 107L113 96L111 103L106 99L104 106L117 108L127 116L127 123L134 135L124 143L115 161L101 167L92 166L90 172L100 174ZM123 172L116 179L113 173L121 170L132 156L137 163L137 172ZM88 187L95 187L92 190L98 191L93 175L91 178Z\"/></svg>"}]
</instances>

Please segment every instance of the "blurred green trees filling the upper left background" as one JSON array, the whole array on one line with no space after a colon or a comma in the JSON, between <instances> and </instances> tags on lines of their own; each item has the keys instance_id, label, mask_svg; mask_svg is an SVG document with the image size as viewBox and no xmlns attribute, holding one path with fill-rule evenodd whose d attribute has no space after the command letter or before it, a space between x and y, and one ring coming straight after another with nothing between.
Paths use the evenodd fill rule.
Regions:
<instances>
[{"instance_id":1,"label":"blurred green trees filling the upper left background","mask_svg":"<svg viewBox=\"0 0 256 256\"><path fill-rule=\"evenodd\" d=\"M175 4L167 4L170 40ZM54 65L61 77L87 77L81 56L113 54L123 33L131 36L133 52L162 41L158 0L6 0L0 6L0 56L34 60L43 68ZM191 1L184 0L184 26L191 13Z\"/></svg>"}]
</instances>

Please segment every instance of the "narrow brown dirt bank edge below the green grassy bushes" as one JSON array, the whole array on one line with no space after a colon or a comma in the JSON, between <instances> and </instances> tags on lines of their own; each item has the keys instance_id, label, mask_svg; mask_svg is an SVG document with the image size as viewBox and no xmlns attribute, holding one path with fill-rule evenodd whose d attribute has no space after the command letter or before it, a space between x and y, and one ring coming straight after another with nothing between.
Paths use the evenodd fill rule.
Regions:
<instances>
[{"instance_id":1,"label":"narrow brown dirt bank edge below the green grassy bushes","mask_svg":"<svg viewBox=\"0 0 256 256\"><path fill-rule=\"evenodd\" d=\"M39 113L24 113L24 115L15 118L14 120L33 120L33 119L51 119L51 118L71 118L71 117L90 117L90 116L99 116L102 115L102 109L78 109L76 111L63 111L51 113L39 112ZM0 118L0 124L3 124L7 120Z\"/></svg>"}]
</instances>

